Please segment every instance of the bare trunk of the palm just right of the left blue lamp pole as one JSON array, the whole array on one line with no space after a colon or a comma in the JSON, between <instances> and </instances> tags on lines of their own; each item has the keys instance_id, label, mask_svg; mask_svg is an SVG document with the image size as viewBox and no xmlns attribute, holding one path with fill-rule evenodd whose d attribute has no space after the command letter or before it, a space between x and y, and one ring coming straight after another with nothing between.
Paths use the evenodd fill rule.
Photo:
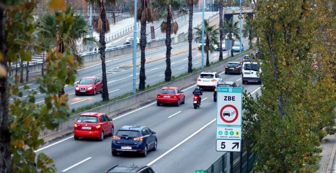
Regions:
<instances>
[{"instance_id":1,"label":"bare trunk of the palm just right of the left blue lamp pole","mask_svg":"<svg viewBox=\"0 0 336 173\"><path fill-rule=\"evenodd\" d=\"M146 80L146 74L145 74L145 48L147 44L147 37L146 37L146 21L141 22L141 30L140 30L140 49L141 49L141 67L140 67L140 73L139 73L139 91L145 90L145 80ZM136 39L134 40L136 41ZM136 48L136 47L135 47Z\"/></svg>"}]
</instances>

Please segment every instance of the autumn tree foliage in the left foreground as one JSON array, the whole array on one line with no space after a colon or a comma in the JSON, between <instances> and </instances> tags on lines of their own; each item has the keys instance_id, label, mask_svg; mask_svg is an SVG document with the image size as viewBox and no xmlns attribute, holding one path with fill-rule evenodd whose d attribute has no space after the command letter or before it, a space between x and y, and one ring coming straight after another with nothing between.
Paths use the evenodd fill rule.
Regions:
<instances>
[{"instance_id":1,"label":"autumn tree foliage in the left foreground","mask_svg":"<svg viewBox=\"0 0 336 173\"><path fill-rule=\"evenodd\" d=\"M0 119L1 135L0 142L0 172L54 172L55 165L52 159L40 153L34 153L41 145L43 139L39 138L39 132L45 126L54 129L57 122L66 119L69 109L67 105L68 95L58 97L58 92L64 84L73 84L75 75L73 72L78 67L71 54L62 55L59 46L47 49L46 74L39 78L39 91L45 95L44 104L35 104L36 91L31 91L29 86L24 90L29 93L28 97L21 98L23 93L19 91L14 79L8 78L8 62L16 62L20 56L23 61L31 61L32 53L24 51L22 47L33 46L39 50L45 48L32 42L32 34L37 25L34 23L33 10L37 1L6 1L0 3L0 28L4 28L0 34L0 62L1 62L1 104ZM69 34L74 24L74 17L65 11L63 1L50 1L50 8L60 11L56 14L57 25L50 28L57 33L54 40L63 39L68 41ZM20 7L20 8L18 8ZM6 16L3 15L6 13ZM4 39L6 37L6 39ZM39 38L43 40L42 37ZM16 75L15 78L18 78ZM13 100L8 103L9 98ZM6 122L6 120L8 120ZM10 134L10 139L8 138ZM36 162L36 167L30 163Z\"/></svg>"}]
</instances>

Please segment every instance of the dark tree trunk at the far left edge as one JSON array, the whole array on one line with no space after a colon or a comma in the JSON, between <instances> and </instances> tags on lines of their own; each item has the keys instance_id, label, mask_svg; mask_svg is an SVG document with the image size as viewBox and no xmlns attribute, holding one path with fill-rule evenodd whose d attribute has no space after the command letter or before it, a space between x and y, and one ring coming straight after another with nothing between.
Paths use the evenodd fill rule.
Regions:
<instances>
[{"instance_id":1,"label":"dark tree trunk at the far left edge","mask_svg":"<svg viewBox=\"0 0 336 173\"><path fill-rule=\"evenodd\" d=\"M2 67L7 66L6 57L6 37L5 37L5 7L0 3L0 53L4 55L0 61ZM10 133L8 128L8 81L7 74L0 76L0 172L12 172L11 152L10 152Z\"/></svg>"}]
</instances>

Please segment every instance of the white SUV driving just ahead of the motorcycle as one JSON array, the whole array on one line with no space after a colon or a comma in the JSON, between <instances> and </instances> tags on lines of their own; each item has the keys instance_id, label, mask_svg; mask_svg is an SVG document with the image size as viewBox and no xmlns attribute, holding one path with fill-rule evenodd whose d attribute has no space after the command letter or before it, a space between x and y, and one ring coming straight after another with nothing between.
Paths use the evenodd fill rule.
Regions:
<instances>
[{"instance_id":1,"label":"white SUV driving just ahead of the motorcycle","mask_svg":"<svg viewBox=\"0 0 336 173\"><path fill-rule=\"evenodd\" d=\"M202 72L197 78L196 85L200 88L210 88L215 89L218 82L221 82L222 79L216 72Z\"/></svg>"}]
</instances>

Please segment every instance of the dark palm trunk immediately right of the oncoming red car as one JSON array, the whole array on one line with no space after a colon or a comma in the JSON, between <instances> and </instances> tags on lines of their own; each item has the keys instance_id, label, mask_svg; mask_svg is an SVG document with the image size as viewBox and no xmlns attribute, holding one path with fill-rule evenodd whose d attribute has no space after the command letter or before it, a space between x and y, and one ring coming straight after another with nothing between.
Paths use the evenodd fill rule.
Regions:
<instances>
[{"instance_id":1,"label":"dark palm trunk immediately right of the oncoming red car","mask_svg":"<svg viewBox=\"0 0 336 173\"><path fill-rule=\"evenodd\" d=\"M105 42L105 26L106 26L106 21L105 21L105 4L101 3L100 1L98 2L100 8L103 8L100 18L102 21L102 32L99 33L99 53L100 53L100 59L101 59L101 70L102 70L102 75L103 75L103 94L102 98L103 101L108 101L108 89L107 89L107 78L106 78L106 64L105 64L105 48L106 48L106 42ZM135 40L136 41L136 38Z\"/></svg>"}]
</instances>

